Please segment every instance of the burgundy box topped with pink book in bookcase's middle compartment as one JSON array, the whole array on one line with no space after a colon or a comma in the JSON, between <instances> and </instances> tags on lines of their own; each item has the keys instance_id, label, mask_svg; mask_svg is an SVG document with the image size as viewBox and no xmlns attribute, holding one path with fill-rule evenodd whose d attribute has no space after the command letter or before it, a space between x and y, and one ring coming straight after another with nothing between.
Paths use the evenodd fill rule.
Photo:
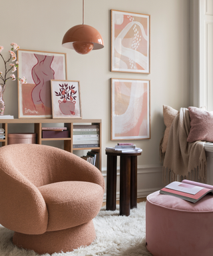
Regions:
<instances>
[{"instance_id":1,"label":"burgundy box topped with pink book in bookcase's middle compartment","mask_svg":"<svg viewBox=\"0 0 213 256\"><path fill-rule=\"evenodd\" d=\"M42 127L43 138L68 138L67 127Z\"/></svg>"}]
</instances>

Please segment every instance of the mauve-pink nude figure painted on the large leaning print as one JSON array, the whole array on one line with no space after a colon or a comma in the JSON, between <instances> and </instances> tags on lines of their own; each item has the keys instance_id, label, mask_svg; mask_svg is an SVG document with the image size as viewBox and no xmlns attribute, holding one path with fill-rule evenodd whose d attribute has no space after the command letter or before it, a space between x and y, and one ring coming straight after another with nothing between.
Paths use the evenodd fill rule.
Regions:
<instances>
[{"instance_id":1,"label":"mauve-pink nude figure painted on the large leaning print","mask_svg":"<svg viewBox=\"0 0 213 256\"><path fill-rule=\"evenodd\" d=\"M54 56L34 54L37 64L32 69L32 77L35 87L32 91L34 105L43 104L43 107L51 107L51 79L55 77L55 71L51 68Z\"/></svg>"}]
</instances>

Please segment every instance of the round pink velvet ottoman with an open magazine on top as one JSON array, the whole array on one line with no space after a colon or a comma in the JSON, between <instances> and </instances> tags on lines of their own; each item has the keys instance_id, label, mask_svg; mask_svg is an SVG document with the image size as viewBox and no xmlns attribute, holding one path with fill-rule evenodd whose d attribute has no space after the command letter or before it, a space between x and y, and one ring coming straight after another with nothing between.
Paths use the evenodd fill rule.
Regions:
<instances>
[{"instance_id":1,"label":"round pink velvet ottoman with an open magazine on top","mask_svg":"<svg viewBox=\"0 0 213 256\"><path fill-rule=\"evenodd\" d=\"M212 256L213 195L197 203L159 191L148 195L146 247L153 256Z\"/></svg>"}]
</instances>

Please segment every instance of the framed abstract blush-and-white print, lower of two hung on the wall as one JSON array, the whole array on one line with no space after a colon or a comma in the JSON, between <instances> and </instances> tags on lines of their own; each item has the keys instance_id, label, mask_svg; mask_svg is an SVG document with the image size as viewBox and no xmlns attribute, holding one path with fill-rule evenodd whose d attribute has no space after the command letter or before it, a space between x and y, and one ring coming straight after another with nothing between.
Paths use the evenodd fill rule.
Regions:
<instances>
[{"instance_id":1,"label":"framed abstract blush-and-white print, lower of two hung on the wall","mask_svg":"<svg viewBox=\"0 0 213 256\"><path fill-rule=\"evenodd\" d=\"M150 80L111 79L111 140L150 139Z\"/></svg>"}]
</instances>

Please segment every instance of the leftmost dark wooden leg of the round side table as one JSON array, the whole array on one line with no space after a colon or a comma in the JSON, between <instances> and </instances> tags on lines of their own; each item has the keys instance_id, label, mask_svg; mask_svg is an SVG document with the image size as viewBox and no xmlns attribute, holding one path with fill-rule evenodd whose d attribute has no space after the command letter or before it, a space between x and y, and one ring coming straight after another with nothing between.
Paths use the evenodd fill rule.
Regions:
<instances>
[{"instance_id":1,"label":"leftmost dark wooden leg of the round side table","mask_svg":"<svg viewBox=\"0 0 213 256\"><path fill-rule=\"evenodd\" d=\"M106 209L114 211L116 209L116 169L117 157L107 155L107 203Z\"/></svg>"}]
</instances>

